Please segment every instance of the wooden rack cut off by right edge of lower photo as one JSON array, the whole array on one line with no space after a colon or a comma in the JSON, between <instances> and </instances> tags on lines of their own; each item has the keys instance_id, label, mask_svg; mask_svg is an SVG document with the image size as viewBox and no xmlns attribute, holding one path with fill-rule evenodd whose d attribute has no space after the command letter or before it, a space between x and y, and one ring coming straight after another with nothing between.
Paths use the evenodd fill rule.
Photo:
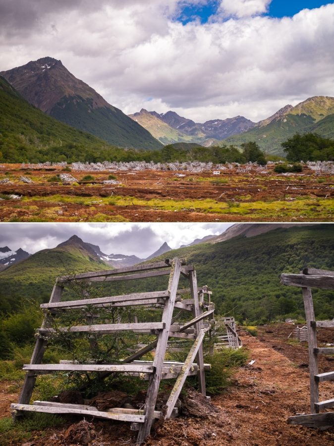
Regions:
<instances>
[{"instance_id":1,"label":"wooden rack cut off by right edge of lower photo","mask_svg":"<svg viewBox=\"0 0 334 446\"><path fill-rule=\"evenodd\" d=\"M302 274L282 274L283 285L300 286L303 293L305 316L308 334L309 372L310 372L310 405L309 415L289 417L290 424L301 424L322 429L334 426L334 412L320 413L322 409L334 407L334 398L319 401L319 384L334 380L334 371L319 373L318 355L333 355L333 347L318 348L317 328L334 327L334 321L316 321L313 308L312 288L333 289L334 271L305 268Z\"/></svg>"}]
</instances>

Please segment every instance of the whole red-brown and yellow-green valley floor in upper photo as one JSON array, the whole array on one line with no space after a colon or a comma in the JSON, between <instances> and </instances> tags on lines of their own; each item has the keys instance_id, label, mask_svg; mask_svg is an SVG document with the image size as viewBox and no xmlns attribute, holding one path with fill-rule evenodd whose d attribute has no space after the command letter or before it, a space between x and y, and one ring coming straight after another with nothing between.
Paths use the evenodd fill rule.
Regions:
<instances>
[{"instance_id":1,"label":"whole red-brown and yellow-green valley floor in upper photo","mask_svg":"<svg viewBox=\"0 0 334 446\"><path fill-rule=\"evenodd\" d=\"M106 184L110 171L68 172L61 167L22 170L0 167L2 222L331 222L334 175L275 174L236 170L191 173L117 171L120 184ZM179 176L179 175L184 176ZM85 179L92 175L93 179ZM33 180L24 183L21 176ZM1 182L5 179L8 182ZM16 195L17 199L11 199Z\"/></svg>"}]
</instances>

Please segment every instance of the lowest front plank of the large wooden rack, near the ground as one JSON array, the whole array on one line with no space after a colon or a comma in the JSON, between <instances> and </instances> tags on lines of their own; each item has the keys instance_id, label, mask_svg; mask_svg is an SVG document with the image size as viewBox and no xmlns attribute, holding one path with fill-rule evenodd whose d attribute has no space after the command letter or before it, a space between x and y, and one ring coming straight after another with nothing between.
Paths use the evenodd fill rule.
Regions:
<instances>
[{"instance_id":1,"label":"lowest front plank of the large wooden rack, near the ground","mask_svg":"<svg viewBox=\"0 0 334 446\"><path fill-rule=\"evenodd\" d=\"M76 414L76 415L91 415L92 417L107 418L110 420L117 421L134 421L137 423L145 422L145 415L133 415L125 413L112 413L112 412L101 412L100 410L86 410L77 409L74 407L55 407L55 406L40 406L32 404L11 404L11 409L13 410L27 410L31 412L45 412L45 413L58 413L58 414Z\"/></svg>"}]
</instances>

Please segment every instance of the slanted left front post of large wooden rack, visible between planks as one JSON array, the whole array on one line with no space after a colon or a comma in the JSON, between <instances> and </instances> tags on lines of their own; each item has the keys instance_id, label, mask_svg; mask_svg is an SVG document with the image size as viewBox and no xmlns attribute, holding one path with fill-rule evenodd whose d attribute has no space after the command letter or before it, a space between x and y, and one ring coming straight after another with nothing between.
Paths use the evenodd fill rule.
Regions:
<instances>
[{"instance_id":1,"label":"slanted left front post of large wooden rack, visible between planks","mask_svg":"<svg viewBox=\"0 0 334 446\"><path fill-rule=\"evenodd\" d=\"M55 284L50 296L50 302L59 302L61 299L61 294L63 292L64 287L62 285ZM50 315L47 315L42 323L42 328L47 327L50 322ZM33 354L30 359L30 364L38 364L42 362L45 349L47 348L48 341L47 339L37 338L36 344L34 347ZM19 396L19 404L29 404L31 395L34 390L34 386L36 383L36 376L32 376L27 373L24 378L24 383L22 386L22 390ZM15 419L15 417L14 417Z\"/></svg>"}]
</instances>

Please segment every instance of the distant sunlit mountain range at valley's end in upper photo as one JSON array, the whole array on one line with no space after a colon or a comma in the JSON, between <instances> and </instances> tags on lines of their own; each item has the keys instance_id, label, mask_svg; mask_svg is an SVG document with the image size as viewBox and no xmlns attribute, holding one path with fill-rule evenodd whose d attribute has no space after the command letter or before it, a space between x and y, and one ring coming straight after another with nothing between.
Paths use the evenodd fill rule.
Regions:
<instances>
[{"instance_id":1,"label":"distant sunlit mountain range at valley's end in upper photo","mask_svg":"<svg viewBox=\"0 0 334 446\"><path fill-rule=\"evenodd\" d=\"M243 116L213 119L203 124L174 111L157 113L142 109L129 115L164 144L192 142L203 146L255 141L266 153L283 155L280 144L295 133L316 132L334 137L334 98L314 96L295 107L286 105L257 123Z\"/></svg>"}]
</instances>

